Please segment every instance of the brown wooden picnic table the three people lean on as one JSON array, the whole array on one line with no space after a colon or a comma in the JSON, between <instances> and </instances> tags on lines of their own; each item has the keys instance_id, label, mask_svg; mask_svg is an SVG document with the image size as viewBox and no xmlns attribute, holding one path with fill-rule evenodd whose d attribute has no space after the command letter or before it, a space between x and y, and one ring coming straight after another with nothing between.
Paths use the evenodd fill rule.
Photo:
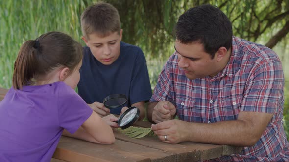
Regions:
<instances>
[{"instance_id":1,"label":"brown wooden picnic table the three people lean on","mask_svg":"<svg viewBox=\"0 0 289 162\"><path fill-rule=\"evenodd\" d=\"M7 89L0 88L0 101ZM149 128L152 123L137 121L134 126ZM96 144L62 136L51 162L196 162L239 153L242 147L181 142L168 144L155 136L131 139L114 130L116 142Z\"/></svg>"}]
</instances>

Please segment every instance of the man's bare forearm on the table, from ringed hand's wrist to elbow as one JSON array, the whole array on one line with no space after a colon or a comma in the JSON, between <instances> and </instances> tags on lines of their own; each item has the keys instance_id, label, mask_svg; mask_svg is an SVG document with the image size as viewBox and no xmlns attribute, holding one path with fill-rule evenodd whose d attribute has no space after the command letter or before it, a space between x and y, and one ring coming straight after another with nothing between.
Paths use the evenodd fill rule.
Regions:
<instances>
[{"instance_id":1,"label":"man's bare forearm on the table, from ringed hand's wrist to elbow","mask_svg":"<svg viewBox=\"0 0 289 162\"><path fill-rule=\"evenodd\" d=\"M189 129L188 129L189 128ZM260 138L250 123L241 120L216 123L188 123L186 141L252 146Z\"/></svg>"}]
</instances>

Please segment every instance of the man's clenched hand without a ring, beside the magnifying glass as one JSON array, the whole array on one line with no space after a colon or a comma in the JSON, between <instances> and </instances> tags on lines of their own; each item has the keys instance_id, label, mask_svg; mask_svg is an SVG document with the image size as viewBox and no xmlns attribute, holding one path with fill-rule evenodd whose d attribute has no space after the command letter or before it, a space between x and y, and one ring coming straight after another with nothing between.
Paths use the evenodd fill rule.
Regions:
<instances>
[{"instance_id":1,"label":"man's clenched hand without a ring, beside the magnifying glass","mask_svg":"<svg viewBox=\"0 0 289 162\"><path fill-rule=\"evenodd\" d=\"M176 113L175 106L169 101L160 101L153 108L152 121L159 123L173 119Z\"/></svg>"}]
</instances>

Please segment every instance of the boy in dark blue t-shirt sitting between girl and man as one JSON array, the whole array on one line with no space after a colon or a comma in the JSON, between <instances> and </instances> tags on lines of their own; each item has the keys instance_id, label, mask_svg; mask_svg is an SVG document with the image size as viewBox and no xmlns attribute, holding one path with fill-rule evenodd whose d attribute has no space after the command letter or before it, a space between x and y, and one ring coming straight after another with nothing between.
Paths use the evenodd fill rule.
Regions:
<instances>
[{"instance_id":1,"label":"boy in dark blue t-shirt sitting between girl and man","mask_svg":"<svg viewBox=\"0 0 289 162\"><path fill-rule=\"evenodd\" d=\"M88 7L81 15L84 56L77 85L79 95L100 116L120 114L130 106L145 117L145 102L152 92L143 51L121 42L120 16L108 3ZM103 99L111 94L125 94L125 107L108 109Z\"/></svg>"}]
</instances>

